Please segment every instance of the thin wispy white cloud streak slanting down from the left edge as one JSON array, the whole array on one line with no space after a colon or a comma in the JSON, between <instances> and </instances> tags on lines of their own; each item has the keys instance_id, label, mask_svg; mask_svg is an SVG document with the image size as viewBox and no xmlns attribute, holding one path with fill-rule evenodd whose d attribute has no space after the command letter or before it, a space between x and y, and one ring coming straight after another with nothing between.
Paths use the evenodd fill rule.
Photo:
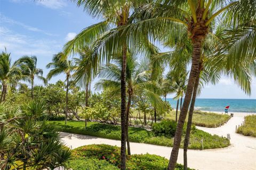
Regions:
<instances>
[{"instance_id":1,"label":"thin wispy white cloud streak slanting down from the left edge","mask_svg":"<svg viewBox=\"0 0 256 170\"><path fill-rule=\"evenodd\" d=\"M24 24L24 23L22 23L22 22L12 20L12 19L10 19L10 18L8 18L8 17L2 15L1 13L0 13L0 18L1 18L1 22L19 25L19 26L21 26L21 27L23 27L24 29L29 30L29 31L41 32L41 33L44 33L45 35L48 35L48 36L54 36L54 35L52 35L51 33L48 33L48 32L46 32L46 31L44 31L44 30L39 29L39 28L31 27L31 26L26 25L26 24Z\"/></svg>"}]
</instances>

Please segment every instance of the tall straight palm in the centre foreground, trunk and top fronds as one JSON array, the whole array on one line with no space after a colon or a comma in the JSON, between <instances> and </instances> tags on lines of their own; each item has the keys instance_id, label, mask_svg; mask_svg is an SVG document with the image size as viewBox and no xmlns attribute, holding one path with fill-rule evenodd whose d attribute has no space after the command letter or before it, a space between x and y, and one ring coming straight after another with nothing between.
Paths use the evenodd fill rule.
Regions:
<instances>
[{"instance_id":1,"label":"tall straight palm in the centre foreground, trunk and top fronds","mask_svg":"<svg viewBox=\"0 0 256 170\"><path fill-rule=\"evenodd\" d=\"M95 40L94 52L96 55L93 56L93 67L98 71L99 66L102 65L103 61L106 59L106 62L110 61L110 57L116 53L122 53L122 74L121 74L121 169L125 169L125 150L126 150L126 56L127 56L127 37L122 33L114 33L116 36L114 40L105 39L108 33L111 34L110 28L119 28L123 25L131 23L130 13L139 5L147 2L145 1L133 1L133 0L119 0L119 1L94 1L94 0L75 0L77 6L82 6L93 16L103 16L105 21L94 24L81 33L79 33L73 40L69 41L65 45L65 54L69 54L71 51L77 53L82 47L86 45L91 45ZM100 37L99 37L100 36ZM146 40L147 37L144 37ZM108 43L106 42L108 41Z\"/></svg>"}]
</instances>

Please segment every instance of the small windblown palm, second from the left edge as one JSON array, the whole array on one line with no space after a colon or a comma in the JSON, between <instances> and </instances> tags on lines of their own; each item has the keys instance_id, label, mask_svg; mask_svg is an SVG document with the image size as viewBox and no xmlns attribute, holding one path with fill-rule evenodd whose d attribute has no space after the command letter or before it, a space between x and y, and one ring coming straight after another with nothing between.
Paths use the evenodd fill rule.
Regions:
<instances>
[{"instance_id":1,"label":"small windblown palm, second from the left edge","mask_svg":"<svg viewBox=\"0 0 256 170\"><path fill-rule=\"evenodd\" d=\"M34 99L34 79L35 77L42 80L44 84L47 80L43 77L43 70L36 67L37 57L36 56L23 56L18 60L18 65L23 73L26 75L26 80L31 83L31 97Z\"/></svg>"}]
</instances>

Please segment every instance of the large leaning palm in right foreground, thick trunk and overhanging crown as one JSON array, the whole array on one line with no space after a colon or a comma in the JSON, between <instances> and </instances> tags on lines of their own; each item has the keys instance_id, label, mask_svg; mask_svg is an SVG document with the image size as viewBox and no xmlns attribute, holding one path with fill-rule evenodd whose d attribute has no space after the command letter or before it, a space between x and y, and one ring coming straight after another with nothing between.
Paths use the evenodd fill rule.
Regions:
<instances>
[{"instance_id":1,"label":"large leaning palm in right foreground, thick trunk and overhanging crown","mask_svg":"<svg viewBox=\"0 0 256 170\"><path fill-rule=\"evenodd\" d=\"M173 170L175 163L177 162L178 152L182 136L182 128L185 122L185 118L190 105L191 97L194 90L194 84L198 73L199 62L201 61L202 47L205 39L209 36L210 27L214 26L214 19L221 16L223 11L228 11L233 17L226 17L225 22L227 24L234 23L231 20L240 19L237 8L245 7L249 9L253 8L251 4L253 1L171 1L171 0L159 0L157 3L150 3L141 6L133 18L136 18L137 22L123 27L126 31L127 37L136 35L137 39L143 36L149 35L151 39L158 39L164 42L166 37L175 37L174 35L186 35L188 32L189 39L192 44L192 64L190 69L190 75L187 84L187 90L185 99L183 101L177 130L174 137L174 145L170 157L169 169ZM240 10L243 11L243 10ZM222 15L226 16L226 15ZM225 23L224 23L225 24ZM174 29L173 29L174 28ZM120 31L119 29L118 31ZM177 32L178 31L178 32ZM186 32L186 33L185 33ZM109 38L109 37L108 37Z\"/></svg>"}]
</instances>

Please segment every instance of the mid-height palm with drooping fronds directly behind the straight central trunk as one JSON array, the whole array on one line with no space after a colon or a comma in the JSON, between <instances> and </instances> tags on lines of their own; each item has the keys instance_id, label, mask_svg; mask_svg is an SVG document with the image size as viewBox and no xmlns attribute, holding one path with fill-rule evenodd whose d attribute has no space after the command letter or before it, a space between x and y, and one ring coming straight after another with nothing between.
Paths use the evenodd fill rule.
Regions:
<instances>
[{"instance_id":1,"label":"mid-height palm with drooping fronds directly behind the straight central trunk","mask_svg":"<svg viewBox=\"0 0 256 170\"><path fill-rule=\"evenodd\" d=\"M109 64L103 67L99 73L99 77L102 78L97 83L95 87L97 89L108 89L111 91L112 95L120 95L120 79L122 72L122 57L117 56L113 60L113 64ZM134 94L139 94L139 92L145 92L145 95L149 98L151 104L157 105L159 110L163 110L166 105L161 99L161 97L156 93L155 83L150 81L150 68L148 67L149 62L143 61L138 63L136 57L132 54L127 55L126 63L126 93L128 96L127 107L126 107L126 142L128 154L131 155L129 136L128 136L128 118L130 115L130 108L132 103L132 98ZM159 91L159 89L158 89Z\"/></svg>"}]
</instances>

